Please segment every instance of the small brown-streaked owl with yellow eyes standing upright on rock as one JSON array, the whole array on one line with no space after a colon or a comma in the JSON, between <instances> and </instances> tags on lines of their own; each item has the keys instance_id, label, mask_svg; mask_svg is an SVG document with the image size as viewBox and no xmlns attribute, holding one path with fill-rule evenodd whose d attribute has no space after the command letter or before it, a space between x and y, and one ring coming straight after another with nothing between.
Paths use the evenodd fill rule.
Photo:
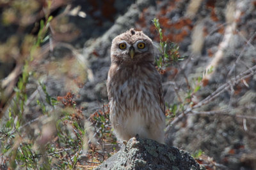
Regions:
<instances>
[{"instance_id":1,"label":"small brown-streaked owl with yellow eyes standing upright on rock","mask_svg":"<svg viewBox=\"0 0 256 170\"><path fill-rule=\"evenodd\" d=\"M152 40L130 29L113 39L107 90L119 141L136 136L164 143L164 99Z\"/></svg>"}]
</instances>

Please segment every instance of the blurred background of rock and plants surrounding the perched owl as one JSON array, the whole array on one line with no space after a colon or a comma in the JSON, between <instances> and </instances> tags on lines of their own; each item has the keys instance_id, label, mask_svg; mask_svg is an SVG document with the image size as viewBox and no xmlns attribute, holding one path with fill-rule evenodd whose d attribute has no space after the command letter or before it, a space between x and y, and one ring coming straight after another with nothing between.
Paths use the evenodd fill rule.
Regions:
<instances>
[{"instance_id":1,"label":"blurred background of rock and plants surrounding the perched owl","mask_svg":"<svg viewBox=\"0 0 256 170\"><path fill-rule=\"evenodd\" d=\"M157 18L163 41L187 56L163 67L166 145L207 169L256 169L255 8L253 0L0 0L1 168L91 169L118 151L106 91L111 41L134 27L157 46Z\"/></svg>"}]
</instances>

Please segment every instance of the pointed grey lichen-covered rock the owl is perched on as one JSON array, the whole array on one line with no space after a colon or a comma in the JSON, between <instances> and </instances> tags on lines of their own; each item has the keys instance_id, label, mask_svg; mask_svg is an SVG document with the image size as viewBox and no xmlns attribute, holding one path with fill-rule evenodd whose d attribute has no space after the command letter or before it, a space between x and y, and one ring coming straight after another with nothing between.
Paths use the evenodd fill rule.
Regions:
<instances>
[{"instance_id":1,"label":"pointed grey lichen-covered rock the owl is perched on","mask_svg":"<svg viewBox=\"0 0 256 170\"><path fill-rule=\"evenodd\" d=\"M188 152L151 139L131 138L119 152L105 160L100 169L205 169Z\"/></svg>"}]
</instances>

